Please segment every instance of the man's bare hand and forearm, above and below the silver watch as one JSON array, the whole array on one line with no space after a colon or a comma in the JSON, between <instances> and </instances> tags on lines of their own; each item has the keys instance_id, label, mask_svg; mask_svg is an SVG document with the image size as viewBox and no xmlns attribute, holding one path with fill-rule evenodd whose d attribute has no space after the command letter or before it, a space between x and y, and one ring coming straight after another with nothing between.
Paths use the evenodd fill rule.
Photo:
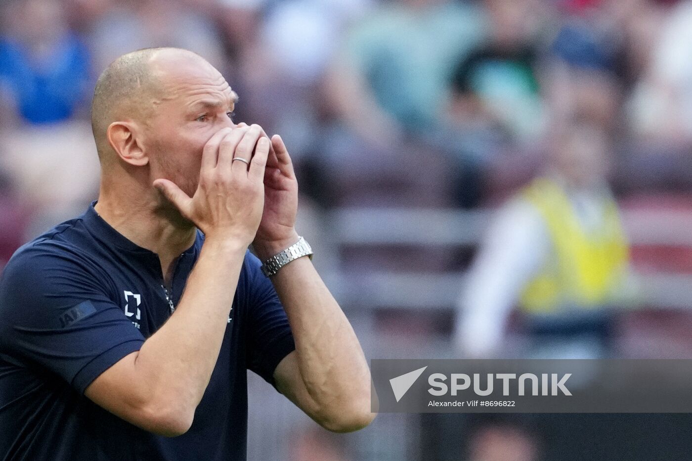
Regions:
<instances>
[{"instance_id":1,"label":"man's bare hand and forearm, above and below the silver watch","mask_svg":"<svg viewBox=\"0 0 692 461\"><path fill-rule=\"evenodd\" d=\"M264 132L262 136L268 139ZM274 135L264 172L264 213L253 242L261 260L298 241L297 213L298 181L291 157L282 138ZM272 283L295 338L295 351L274 371L277 389L330 431L355 431L370 424L374 413L363 350L311 262L301 258L277 273Z\"/></svg>"}]
</instances>

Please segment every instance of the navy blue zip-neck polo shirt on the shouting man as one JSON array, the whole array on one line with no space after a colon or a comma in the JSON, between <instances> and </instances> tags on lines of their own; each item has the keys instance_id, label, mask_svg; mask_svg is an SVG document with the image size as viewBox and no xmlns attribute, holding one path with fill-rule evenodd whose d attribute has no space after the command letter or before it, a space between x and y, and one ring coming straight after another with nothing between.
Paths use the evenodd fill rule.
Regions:
<instances>
[{"instance_id":1,"label":"navy blue zip-neck polo shirt on the shouting man","mask_svg":"<svg viewBox=\"0 0 692 461\"><path fill-rule=\"evenodd\" d=\"M276 366L295 349L273 285L249 252L190 431L148 433L83 395L172 315L203 241L198 232L179 258L170 291L156 253L120 235L93 204L19 248L0 280L0 460L246 458L246 370L274 385Z\"/></svg>"}]
</instances>

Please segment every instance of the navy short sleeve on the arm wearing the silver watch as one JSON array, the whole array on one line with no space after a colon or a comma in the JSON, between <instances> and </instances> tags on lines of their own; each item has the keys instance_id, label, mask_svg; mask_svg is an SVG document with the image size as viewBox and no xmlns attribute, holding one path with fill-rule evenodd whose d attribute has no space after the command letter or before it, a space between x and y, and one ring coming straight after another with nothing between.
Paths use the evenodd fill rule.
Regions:
<instances>
[{"instance_id":1,"label":"navy short sleeve on the arm wearing the silver watch","mask_svg":"<svg viewBox=\"0 0 692 461\"><path fill-rule=\"evenodd\" d=\"M248 253L247 359L248 368L276 387L273 374L286 355L295 350L295 342L286 311L274 285L260 270L260 260Z\"/></svg>"}]
</instances>

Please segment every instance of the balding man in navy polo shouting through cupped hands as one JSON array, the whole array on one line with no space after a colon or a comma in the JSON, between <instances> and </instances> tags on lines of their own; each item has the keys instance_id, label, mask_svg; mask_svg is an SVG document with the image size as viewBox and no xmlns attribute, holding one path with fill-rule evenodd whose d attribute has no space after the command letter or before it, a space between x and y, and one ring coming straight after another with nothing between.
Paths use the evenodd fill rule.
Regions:
<instances>
[{"instance_id":1,"label":"balding man in navy polo shouting through cupped hands","mask_svg":"<svg viewBox=\"0 0 692 461\"><path fill-rule=\"evenodd\" d=\"M248 369L330 431L374 417L361 346L295 231L289 153L235 123L236 101L179 49L101 75L98 201L0 280L3 460L243 460Z\"/></svg>"}]
</instances>

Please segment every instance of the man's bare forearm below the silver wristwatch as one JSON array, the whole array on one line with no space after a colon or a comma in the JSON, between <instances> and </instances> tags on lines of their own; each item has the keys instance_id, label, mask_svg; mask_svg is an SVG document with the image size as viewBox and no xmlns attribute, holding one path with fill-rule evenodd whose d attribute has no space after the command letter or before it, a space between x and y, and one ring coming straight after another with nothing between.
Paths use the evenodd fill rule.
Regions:
<instances>
[{"instance_id":1,"label":"man's bare forearm below the silver wristwatch","mask_svg":"<svg viewBox=\"0 0 692 461\"><path fill-rule=\"evenodd\" d=\"M302 257L287 264L272 281L291 324L311 417L369 415L370 370L363 350L310 260Z\"/></svg>"}]
</instances>

